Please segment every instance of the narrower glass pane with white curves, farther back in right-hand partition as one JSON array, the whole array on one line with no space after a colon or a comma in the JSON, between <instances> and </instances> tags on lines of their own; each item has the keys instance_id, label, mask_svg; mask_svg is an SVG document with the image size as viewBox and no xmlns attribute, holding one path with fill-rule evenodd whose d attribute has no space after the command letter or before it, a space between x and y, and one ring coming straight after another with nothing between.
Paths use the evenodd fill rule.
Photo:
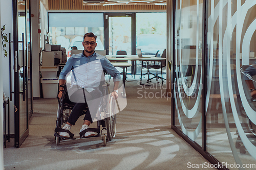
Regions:
<instances>
[{"instance_id":1,"label":"narrower glass pane with white curves, farther back in right-hand partition","mask_svg":"<svg viewBox=\"0 0 256 170\"><path fill-rule=\"evenodd\" d=\"M202 144L202 2L177 1L175 28L174 95L177 125L184 134L199 145Z\"/></svg>"}]
</instances>

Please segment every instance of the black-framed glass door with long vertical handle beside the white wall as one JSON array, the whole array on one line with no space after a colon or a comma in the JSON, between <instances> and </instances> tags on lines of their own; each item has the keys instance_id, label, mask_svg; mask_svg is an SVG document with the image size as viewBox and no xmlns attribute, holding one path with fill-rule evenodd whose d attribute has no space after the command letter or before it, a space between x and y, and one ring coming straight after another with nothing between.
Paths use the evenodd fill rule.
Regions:
<instances>
[{"instance_id":1,"label":"black-framed glass door with long vertical handle beside the white wall","mask_svg":"<svg viewBox=\"0 0 256 170\"><path fill-rule=\"evenodd\" d=\"M13 1L13 49L14 49L14 147L19 148L28 136L28 65L26 1ZM16 9L16 10L15 10Z\"/></svg>"}]
</instances>

